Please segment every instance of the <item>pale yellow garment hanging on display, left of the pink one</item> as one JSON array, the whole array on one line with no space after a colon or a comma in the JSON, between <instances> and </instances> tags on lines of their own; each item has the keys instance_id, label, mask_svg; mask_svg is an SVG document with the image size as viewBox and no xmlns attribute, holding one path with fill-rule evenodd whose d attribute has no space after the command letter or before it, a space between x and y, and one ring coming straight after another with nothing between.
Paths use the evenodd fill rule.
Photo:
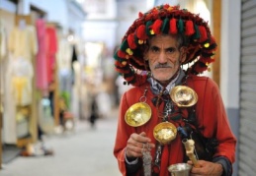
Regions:
<instances>
[{"instance_id":1,"label":"pale yellow garment hanging on display, left of the pink one","mask_svg":"<svg viewBox=\"0 0 256 176\"><path fill-rule=\"evenodd\" d=\"M11 31L8 42L11 54L8 73L12 77L11 89L18 105L32 103L32 59L38 52L36 29L24 23L21 20Z\"/></svg>"}]
</instances>

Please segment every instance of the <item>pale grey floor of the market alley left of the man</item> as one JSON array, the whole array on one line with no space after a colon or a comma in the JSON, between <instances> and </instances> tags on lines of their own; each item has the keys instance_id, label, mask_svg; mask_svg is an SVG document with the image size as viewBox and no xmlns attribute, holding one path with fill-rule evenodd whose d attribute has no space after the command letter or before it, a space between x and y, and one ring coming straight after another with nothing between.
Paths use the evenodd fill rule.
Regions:
<instances>
[{"instance_id":1,"label":"pale grey floor of the market alley left of the man","mask_svg":"<svg viewBox=\"0 0 256 176\"><path fill-rule=\"evenodd\" d=\"M76 123L74 133L45 138L52 156L19 156L4 164L1 176L120 176L113 155L117 115L99 119L92 129L87 121Z\"/></svg>"}]
</instances>

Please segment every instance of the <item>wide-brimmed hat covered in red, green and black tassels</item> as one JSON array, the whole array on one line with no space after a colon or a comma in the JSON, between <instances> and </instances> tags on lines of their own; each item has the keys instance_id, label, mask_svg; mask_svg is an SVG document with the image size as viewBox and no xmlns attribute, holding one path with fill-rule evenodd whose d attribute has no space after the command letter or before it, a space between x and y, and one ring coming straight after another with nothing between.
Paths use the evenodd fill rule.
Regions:
<instances>
[{"instance_id":1,"label":"wide-brimmed hat covered in red, green and black tassels","mask_svg":"<svg viewBox=\"0 0 256 176\"><path fill-rule=\"evenodd\" d=\"M208 23L199 15L179 6L168 4L139 13L138 19L129 27L120 48L115 53L116 70L128 84L139 86L146 81L143 71L149 71L148 62L143 59L143 50L149 36L157 34L184 34L188 40L186 74L198 75L208 70L212 63L216 43Z\"/></svg>"}]
</instances>

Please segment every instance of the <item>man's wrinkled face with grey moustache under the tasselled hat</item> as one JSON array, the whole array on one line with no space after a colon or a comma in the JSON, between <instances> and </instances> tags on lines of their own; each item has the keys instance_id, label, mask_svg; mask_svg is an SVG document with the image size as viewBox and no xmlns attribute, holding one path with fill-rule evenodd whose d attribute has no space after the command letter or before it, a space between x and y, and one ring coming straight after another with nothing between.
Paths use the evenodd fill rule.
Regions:
<instances>
[{"instance_id":1,"label":"man's wrinkled face with grey moustache under the tasselled hat","mask_svg":"<svg viewBox=\"0 0 256 176\"><path fill-rule=\"evenodd\" d=\"M173 35L156 35L149 40L145 52L151 73L161 84L168 84L185 60L184 47L179 49L177 37Z\"/></svg>"}]
</instances>

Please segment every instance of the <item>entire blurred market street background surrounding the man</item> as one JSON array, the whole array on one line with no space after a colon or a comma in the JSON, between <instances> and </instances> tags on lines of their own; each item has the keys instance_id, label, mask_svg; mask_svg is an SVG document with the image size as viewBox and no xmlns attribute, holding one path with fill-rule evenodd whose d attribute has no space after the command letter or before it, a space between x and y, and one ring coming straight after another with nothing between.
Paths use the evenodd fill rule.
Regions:
<instances>
[{"instance_id":1,"label":"entire blurred market street background surrounding the man","mask_svg":"<svg viewBox=\"0 0 256 176\"><path fill-rule=\"evenodd\" d=\"M138 12L180 5L218 44L207 75L238 140L233 175L256 173L255 0L0 0L0 175L121 175L113 146L127 90L113 54Z\"/></svg>"}]
</instances>

